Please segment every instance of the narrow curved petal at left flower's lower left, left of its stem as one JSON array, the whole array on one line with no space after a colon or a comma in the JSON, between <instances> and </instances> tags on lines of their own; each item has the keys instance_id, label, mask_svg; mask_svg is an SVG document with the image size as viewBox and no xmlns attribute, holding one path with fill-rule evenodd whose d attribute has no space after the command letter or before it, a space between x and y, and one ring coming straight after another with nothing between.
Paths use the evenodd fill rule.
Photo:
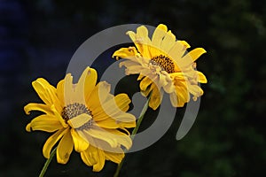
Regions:
<instances>
[{"instance_id":1,"label":"narrow curved petal at left flower's lower left, left of its stem","mask_svg":"<svg viewBox=\"0 0 266 177\"><path fill-rule=\"evenodd\" d=\"M59 139L66 134L69 129L60 129L55 134L51 135L43 145L43 156L50 158L50 152L52 147L59 141Z\"/></svg>"}]
</instances>

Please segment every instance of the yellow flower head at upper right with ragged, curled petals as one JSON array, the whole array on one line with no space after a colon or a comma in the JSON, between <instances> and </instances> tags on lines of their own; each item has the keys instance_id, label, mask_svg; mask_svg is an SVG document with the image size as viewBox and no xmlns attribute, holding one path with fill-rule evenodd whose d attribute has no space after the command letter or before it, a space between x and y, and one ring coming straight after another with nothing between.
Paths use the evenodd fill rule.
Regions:
<instances>
[{"instance_id":1,"label":"yellow flower head at upper right with ragged, curled petals","mask_svg":"<svg viewBox=\"0 0 266 177\"><path fill-rule=\"evenodd\" d=\"M125 58L120 66L126 67L126 74L139 74L137 80L145 96L152 94L149 106L156 110L163 92L170 96L171 104L183 107L203 95L200 83L207 83L203 73L196 71L195 60L206 50L197 48L187 52L190 45L176 40L168 27L160 24L154 30L152 39L145 26L137 27L137 33L127 33L136 47L121 48L113 53L116 59Z\"/></svg>"}]
</instances>

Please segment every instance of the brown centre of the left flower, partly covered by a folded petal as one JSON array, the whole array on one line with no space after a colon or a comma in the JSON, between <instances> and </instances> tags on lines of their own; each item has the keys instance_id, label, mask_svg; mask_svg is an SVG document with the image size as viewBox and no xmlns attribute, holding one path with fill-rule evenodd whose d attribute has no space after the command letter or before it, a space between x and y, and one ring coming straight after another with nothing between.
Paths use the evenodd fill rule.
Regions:
<instances>
[{"instance_id":1,"label":"brown centre of the left flower, partly covered by a folded petal","mask_svg":"<svg viewBox=\"0 0 266 177\"><path fill-rule=\"evenodd\" d=\"M90 116L92 116L90 110L86 107L84 104L68 104L66 105L62 112L61 116L65 121L67 122L69 119L73 119L74 117L81 115L82 113L86 113ZM92 126L92 119L90 119L88 122L82 125L82 127L78 127L78 129L85 129L85 128L90 128Z\"/></svg>"}]
</instances>

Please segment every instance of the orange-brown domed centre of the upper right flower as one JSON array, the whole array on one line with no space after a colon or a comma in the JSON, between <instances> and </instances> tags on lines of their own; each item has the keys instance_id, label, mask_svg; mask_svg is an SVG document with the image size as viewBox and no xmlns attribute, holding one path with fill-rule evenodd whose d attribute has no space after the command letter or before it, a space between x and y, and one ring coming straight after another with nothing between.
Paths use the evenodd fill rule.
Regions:
<instances>
[{"instance_id":1,"label":"orange-brown domed centre of the upper right flower","mask_svg":"<svg viewBox=\"0 0 266 177\"><path fill-rule=\"evenodd\" d=\"M152 58L150 60L150 63L152 65L159 65L160 68L162 70L166 71L167 73L175 73L174 62L170 58L168 58L164 55L160 55L160 56L156 56L156 57Z\"/></svg>"}]
</instances>

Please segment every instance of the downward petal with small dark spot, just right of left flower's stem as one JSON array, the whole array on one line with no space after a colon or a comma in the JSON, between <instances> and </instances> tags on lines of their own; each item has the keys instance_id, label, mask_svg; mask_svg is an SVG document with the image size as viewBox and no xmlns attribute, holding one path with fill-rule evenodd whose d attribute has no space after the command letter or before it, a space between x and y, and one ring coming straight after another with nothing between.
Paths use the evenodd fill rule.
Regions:
<instances>
[{"instance_id":1,"label":"downward petal with small dark spot, just right of left flower's stem","mask_svg":"<svg viewBox=\"0 0 266 177\"><path fill-rule=\"evenodd\" d=\"M70 131L67 131L59 142L57 149L57 160L59 164L66 164L70 157L70 154L72 153L73 146L74 143L72 141Z\"/></svg>"}]
</instances>

